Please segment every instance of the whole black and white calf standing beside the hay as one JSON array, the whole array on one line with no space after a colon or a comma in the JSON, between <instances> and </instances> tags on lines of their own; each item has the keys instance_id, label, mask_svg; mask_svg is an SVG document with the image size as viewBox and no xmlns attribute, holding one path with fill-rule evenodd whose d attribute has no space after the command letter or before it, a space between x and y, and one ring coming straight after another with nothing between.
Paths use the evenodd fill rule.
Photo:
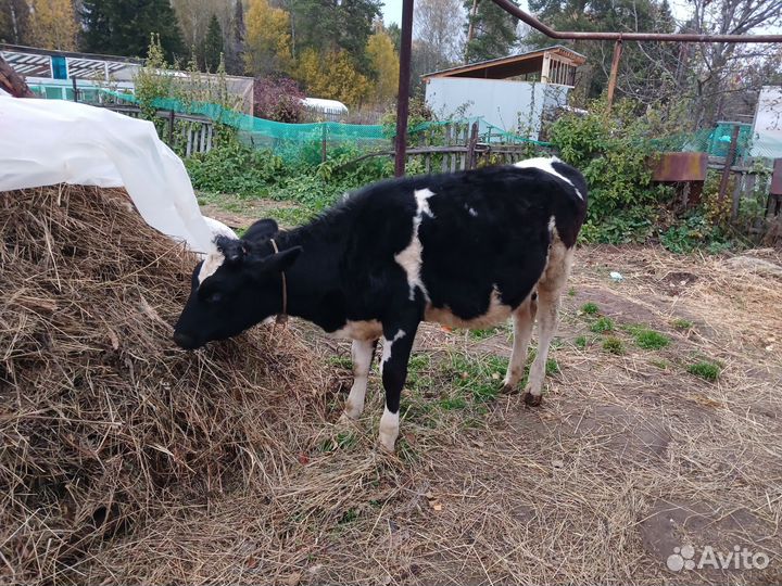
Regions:
<instances>
[{"instance_id":1,"label":"whole black and white calf standing beside the hay","mask_svg":"<svg viewBox=\"0 0 782 586\"><path fill-rule=\"evenodd\" d=\"M505 387L519 381L535 316L540 328L525 400L539 405L559 295L586 214L583 177L557 158L382 181L311 224L255 222L192 275L174 340L188 349L288 313L353 340L345 415L364 408L382 343L380 444L393 450L400 395L421 321L485 328L514 319Z\"/></svg>"}]
</instances>

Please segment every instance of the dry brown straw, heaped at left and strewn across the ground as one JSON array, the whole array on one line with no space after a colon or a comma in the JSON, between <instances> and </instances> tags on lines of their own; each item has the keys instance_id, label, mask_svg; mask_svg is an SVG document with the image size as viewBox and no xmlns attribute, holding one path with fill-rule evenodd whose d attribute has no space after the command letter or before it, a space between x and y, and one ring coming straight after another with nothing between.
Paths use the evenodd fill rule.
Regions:
<instances>
[{"instance_id":1,"label":"dry brown straw, heaped at left and strewn across the ground","mask_svg":"<svg viewBox=\"0 0 782 586\"><path fill-rule=\"evenodd\" d=\"M331 424L349 373L301 323L174 347L194 258L124 192L2 193L0 229L2 584L782 579L777 280L582 250L544 405L437 407L457 392L450 356L491 365L507 342L422 328L430 382L405 393L391 457L374 447L377 378L360 423ZM616 321L623 354L591 341L585 301ZM634 346L621 328L640 322L670 346ZM686 372L701 358L720 361L717 381ZM684 543L772 563L676 574L666 558Z\"/></svg>"}]
</instances>

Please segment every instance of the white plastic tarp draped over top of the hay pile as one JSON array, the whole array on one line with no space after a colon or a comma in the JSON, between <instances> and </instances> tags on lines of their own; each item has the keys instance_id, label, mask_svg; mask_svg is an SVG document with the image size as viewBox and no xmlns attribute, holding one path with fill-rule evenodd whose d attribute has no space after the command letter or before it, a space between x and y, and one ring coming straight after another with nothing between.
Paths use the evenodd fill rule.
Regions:
<instances>
[{"instance_id":1,"label":"white plastic tarp draped over top of the hay pile","mask_svg":"<svg viewBox=\"0 0 782 586\"><path fill-rule=\"evenodd\" d=\"M55 183L125 187L147 224L195 252L213 247L185 165L152 123L0 94L0 191Z\"/></svg>"}]
</instances>

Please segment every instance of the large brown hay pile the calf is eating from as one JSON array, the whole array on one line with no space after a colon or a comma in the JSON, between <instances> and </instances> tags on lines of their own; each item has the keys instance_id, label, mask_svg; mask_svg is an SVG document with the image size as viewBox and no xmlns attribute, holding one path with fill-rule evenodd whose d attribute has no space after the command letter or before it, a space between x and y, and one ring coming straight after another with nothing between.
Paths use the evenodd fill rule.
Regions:
<instances>
[{"instance_id":1,"label":"large brown hay pile the calf is eating from","mask_svg":"<svg viewBox=\"0 0 782 586\"><path fill-rule=\"evenodd\" d=\"M176 348L195 258L124 191L0 193L0 583L112 576L106 544L298 464L325 370L282 331Z\"/></svg>"}]
</instances>

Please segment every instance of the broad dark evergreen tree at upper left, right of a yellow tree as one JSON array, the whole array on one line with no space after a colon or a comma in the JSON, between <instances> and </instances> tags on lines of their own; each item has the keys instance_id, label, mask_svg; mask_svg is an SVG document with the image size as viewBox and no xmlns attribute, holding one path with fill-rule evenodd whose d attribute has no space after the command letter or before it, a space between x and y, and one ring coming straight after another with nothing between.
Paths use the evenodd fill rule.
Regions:
<instances>
[{"instance_id":1,"label":"broad dark evergreen tree at upper left, right of a yellow tree","mask_svg":"<svg viewBox=\"0 0 782 586\"><path fill-rule=\"evenodd\" d=\"M85 51L143 55L154 34L169 61L184 52L179 24L168 0L84 0L81 22Z\"/></svg>"}]
</instances>

